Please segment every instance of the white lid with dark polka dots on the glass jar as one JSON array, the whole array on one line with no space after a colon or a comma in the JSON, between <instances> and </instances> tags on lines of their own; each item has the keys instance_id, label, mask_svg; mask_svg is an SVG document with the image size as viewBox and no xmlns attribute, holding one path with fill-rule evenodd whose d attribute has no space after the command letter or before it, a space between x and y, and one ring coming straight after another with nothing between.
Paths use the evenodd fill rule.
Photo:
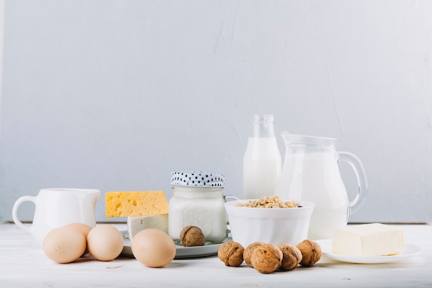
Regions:
<instances>
[{"instance_id":1,"label":"white lid with dark polka dots on the glass jar","mask_svg":"<svg viewBox=\"0 0 432 288\"><path fill-rule=\"evenodd\" d=\"M224 187L225 175L202 171L171 172L171 184L179 186Z\"/></svg>"}]
</instances>

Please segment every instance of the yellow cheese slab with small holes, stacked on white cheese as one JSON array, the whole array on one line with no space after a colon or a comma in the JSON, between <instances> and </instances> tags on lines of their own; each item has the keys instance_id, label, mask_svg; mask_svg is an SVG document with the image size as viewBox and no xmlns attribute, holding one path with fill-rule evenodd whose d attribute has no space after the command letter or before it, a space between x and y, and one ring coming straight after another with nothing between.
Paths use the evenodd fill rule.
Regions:
<instances>
[{"instance_id":1,"label":"yellow cheese slab with small holes, stacked on white cheese","mask_svg":"<svg viewBox=\"0 0 432 288\"><path fill-rule=\"evenodd\" d=\"M161 215L168 213L164 191L119 191L105 193L106 217Z\"/></svg>"}]
</instances>

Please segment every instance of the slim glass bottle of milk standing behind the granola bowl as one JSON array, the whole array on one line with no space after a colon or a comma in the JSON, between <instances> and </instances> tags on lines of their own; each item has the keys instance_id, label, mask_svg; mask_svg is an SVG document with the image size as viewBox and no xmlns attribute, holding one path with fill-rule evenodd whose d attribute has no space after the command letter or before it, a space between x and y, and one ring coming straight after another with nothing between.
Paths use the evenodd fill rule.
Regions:
<instances>
[{"instance_id":1,"label":"slim glass bottle of milk standing behind the granola bowl","mask_svg":"<svg viewBox=\"0 0 432 288\"><path fill-rule=\"evenodd\" d=\"M243 197L273 195L282 170L273 115L253 115L243 157Z\"/></svg>"}]
</instances>

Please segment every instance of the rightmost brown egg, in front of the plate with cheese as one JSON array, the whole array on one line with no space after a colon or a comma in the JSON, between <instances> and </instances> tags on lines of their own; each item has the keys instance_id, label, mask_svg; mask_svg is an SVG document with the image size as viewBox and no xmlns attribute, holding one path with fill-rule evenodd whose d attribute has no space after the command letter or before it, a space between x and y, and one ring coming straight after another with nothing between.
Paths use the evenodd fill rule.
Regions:
<instances>
[{"instance_id":1,"label":"rightmost brown egg, in front of the plate with cheese","mask_svg":"<svg viewBox=\"0 0 432 288\"><path fill-rule=\"evenodd\" d=\"M139 231L130 244L132 254L148 267L163 267L175 257L175 243L164 231L148 228Z\"/></svg>"}]
</instances>

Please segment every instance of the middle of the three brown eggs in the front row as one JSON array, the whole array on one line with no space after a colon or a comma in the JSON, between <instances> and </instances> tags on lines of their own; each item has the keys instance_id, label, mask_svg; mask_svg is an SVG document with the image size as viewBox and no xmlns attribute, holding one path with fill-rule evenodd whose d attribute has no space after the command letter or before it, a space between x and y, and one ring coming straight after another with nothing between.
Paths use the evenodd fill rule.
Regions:
<instances>
[{"instance_id":1,"label":"middle of the three brown eggs in the front row","mask_svg":"<svg viewBox=\"0 0 432 288\"><path fill-rule=\"evenodd\" d=\"M117 258L123 250L121 232L110 224L100 224L90 230L87 247L97 260L110 261Z\"/></svg>"}]
</instances>

